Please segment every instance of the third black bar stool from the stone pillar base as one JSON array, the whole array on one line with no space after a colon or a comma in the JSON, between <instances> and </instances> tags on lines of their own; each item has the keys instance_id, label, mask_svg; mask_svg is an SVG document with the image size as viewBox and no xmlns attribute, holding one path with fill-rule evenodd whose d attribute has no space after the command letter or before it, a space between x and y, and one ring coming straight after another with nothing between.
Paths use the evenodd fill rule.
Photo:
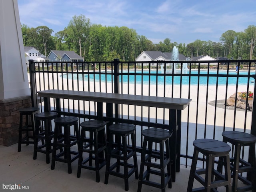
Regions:
<instances>
[{"instance_id":1,"label":"third black bar stool from the stone pillar base","mask_svg":"<svg viewBox=\"0 0 256 192\"><path fill-rule=\"evenodd\" d=\"M78 150L74 151L70 148L78 143L80 132L78 130L78 118L72 116L59 117L54 119L54 140L52 148L52 166L55 168L55 161L60 161L68 164L68 173L72 173L71 163L78 158ZM74 134L70 134L70 126L74 126ZM64 134L62 134L62 127L64 127ZM58 148L64 147L64 151L60 150L56 154ZM71 155L74 155L71 157ZM64 158L62 158L64 156Z\"/></svg>"}]
</instances>

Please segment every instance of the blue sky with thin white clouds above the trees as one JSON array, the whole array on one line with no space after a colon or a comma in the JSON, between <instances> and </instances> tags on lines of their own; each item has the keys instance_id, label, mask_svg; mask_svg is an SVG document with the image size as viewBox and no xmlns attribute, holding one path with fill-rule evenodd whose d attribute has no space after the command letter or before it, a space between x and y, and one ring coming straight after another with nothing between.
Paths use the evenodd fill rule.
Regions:
<instances>
[{"instance_id":1,"label":"blue sky with thin white clouds above the trees","mask_svg":"<svg viewBox=\"0 0 256 192\"><path fill-rule=\"evenodd\" d=\"M255 0L18 0L18 7L21 24L30 28L55 33L82 14L92 24L132 28L153 43L219 42L227 30L256 26Z\"/></svg>"}]
</instances>

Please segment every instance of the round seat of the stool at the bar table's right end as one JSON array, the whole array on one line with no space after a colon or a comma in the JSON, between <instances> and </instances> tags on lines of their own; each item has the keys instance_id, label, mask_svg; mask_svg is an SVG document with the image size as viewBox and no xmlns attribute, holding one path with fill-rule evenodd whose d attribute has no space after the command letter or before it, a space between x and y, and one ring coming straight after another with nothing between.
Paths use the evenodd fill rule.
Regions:
<instances>
[{"instance_id":1,"label":"round seat of the stool at the bar table's right end","mask_svg":"<svg viewBox=\"0 0 256 192\"><path fill-rule=\"evenodd\" d=\"M144 129L141 133L148 140L164 140L172 136L171 132L160 128Z\"/></svg>"}]
</instances>

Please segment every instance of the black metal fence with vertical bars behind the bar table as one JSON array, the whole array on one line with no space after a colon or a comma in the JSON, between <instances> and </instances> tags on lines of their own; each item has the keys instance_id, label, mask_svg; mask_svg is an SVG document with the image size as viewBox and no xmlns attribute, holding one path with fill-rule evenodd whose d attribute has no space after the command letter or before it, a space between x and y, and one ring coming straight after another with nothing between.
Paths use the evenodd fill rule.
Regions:
<instances>
[{"instance_id":1,"label":"black metal fence with vertical bars behind the bar table","mask_svg":"<svg viewBox=\"0 0 256 192\"><path fill-rule=\"evenodd\" d=\"M239 97L239 92L256 91L255 62L120 62L116 59L112 62L68 63L30 60L32 101L34 106L40 103L43 110L42 98L37 98L36 92L47 89L190 98L192 102L182 111L181 125L181 163L190 165L192 142L197 138L222 140L224 130L240 130L256 135L256 100L252 102L246 98L240 102ZM228 106L231 103L234 106ZM51 107L55 107L54 100ZM97 110L95 102L78 100L62 100L62 108L75 113L81 121L95 118ZM169 122L167 109L119 104L114 108L115 116L125 120ZM136 127L137 146L142 146L140 132L144 128L147 126ZM247 151L244 149L242 155L246 155Z\"/></svg>"}]
</instances>

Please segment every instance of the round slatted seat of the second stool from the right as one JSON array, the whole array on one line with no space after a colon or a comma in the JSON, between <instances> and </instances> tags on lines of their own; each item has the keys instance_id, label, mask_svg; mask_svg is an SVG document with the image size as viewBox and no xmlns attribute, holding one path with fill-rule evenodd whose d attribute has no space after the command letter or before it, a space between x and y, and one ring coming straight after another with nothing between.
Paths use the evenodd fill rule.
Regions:
<instances>
[{"instance_id":1,"label":"round slatted seat of the second stool from the right","mask_svg":"<svg viewBox=\"0 0 256 192\"><path fill-rule=\"evenodd\" d=\"M228 144L214 139L197 139L193 142L196 150L202 154L226 154L231 148Z\"/></svg>"}]
</instances>

